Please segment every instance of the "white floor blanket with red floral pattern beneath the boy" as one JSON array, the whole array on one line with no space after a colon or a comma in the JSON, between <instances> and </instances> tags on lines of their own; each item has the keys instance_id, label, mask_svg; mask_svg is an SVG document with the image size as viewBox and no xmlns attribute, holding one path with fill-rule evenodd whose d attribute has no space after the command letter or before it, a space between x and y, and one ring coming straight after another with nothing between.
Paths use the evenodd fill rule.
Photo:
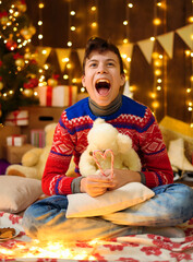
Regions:
<instances>
[{"instance_id":1,"label":"white floor blanket with red floral pattern beneath the boy","mask_svg":"<svg viewBox=\"0 0 193 262\"><path fill-rule=\"evenodd\" d=\"M60 261L193 261L193 218L180 225L184 238L157 235L133 235L89 242L39 242L28 238L22 228L22 217L0 212L0 227L15 228L12 239L0 241L0 262Z\"/></svg>"}]
</instances>

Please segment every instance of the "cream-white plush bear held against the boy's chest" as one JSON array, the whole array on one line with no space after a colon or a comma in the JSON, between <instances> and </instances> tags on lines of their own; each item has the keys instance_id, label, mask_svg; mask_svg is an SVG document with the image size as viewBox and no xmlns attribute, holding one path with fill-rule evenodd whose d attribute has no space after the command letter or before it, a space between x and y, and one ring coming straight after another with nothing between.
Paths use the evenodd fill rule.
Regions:
<instances>
[{"instance_id":1,"label":"cream-white plush bear held against the boy's chest","mask_svg":"<svg viewBox=\"0 0 193 262\"><path fill-rule=\"evenodd\" d=\"M137 153L132 148L132 140L119 133L110 123L97 118L87 135L88 146L80 158L82 176L102 174L106 169L130 169L141 171Z\"/></svg>"}]
</instances>

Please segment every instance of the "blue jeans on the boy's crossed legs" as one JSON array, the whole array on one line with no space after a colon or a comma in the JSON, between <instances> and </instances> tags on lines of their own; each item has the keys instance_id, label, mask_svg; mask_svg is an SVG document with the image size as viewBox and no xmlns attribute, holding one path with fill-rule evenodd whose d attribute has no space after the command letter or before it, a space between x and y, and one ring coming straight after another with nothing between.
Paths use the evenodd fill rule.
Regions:
<instances>
[{"instance_id":1,"label":"blue jeans on the boy's crossed legs","mask_svg":"<svg viewBox=\"0 0 193 262\"><path fill-rule=\"evenodd\" d=\"M117 225L102 217L67 219L67 196L52 195L25 211L23 227L32 238L74 241L142 234L144 227L176 226L193 217L192 188L173 183L153 191L154 198L124 210L131 215L131 225Z\"/></svg>"}]
</instances>

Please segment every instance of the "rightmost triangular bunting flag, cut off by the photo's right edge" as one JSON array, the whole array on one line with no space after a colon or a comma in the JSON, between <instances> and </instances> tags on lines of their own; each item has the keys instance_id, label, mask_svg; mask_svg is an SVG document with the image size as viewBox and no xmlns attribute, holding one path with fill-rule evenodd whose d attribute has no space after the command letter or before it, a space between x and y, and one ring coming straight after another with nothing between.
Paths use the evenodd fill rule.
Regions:
<instances>
[{"instance_id":1,"label":"rightmost triangular bunting flag, cut off by the photo's right edge","mask_svg":"<svg viewBox=\"0 0 193 262\"><path fill-rule=\"evenodd\" d=\"M193 49L193 24L185 25L177 29L176 32L192 50Z\"/></svg>"}]
</instances>

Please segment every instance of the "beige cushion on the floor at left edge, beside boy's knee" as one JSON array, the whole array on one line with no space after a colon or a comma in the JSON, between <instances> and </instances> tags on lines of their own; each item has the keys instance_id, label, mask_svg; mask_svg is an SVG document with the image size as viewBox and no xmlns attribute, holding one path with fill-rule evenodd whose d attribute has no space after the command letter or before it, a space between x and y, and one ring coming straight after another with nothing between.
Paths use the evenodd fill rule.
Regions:
<instances>
[{"instance_id":1,"label":"beige cushion on the floor at left edge, beside boy's knee","mask_svg":"<svg viewBox=\"0 0 193 262\"><path fill-rule=\"evenodd\" d=\"M43 194L41 181L17 176L0 176L0 211L19 213Z\"/></svg>"}]
</instances>

